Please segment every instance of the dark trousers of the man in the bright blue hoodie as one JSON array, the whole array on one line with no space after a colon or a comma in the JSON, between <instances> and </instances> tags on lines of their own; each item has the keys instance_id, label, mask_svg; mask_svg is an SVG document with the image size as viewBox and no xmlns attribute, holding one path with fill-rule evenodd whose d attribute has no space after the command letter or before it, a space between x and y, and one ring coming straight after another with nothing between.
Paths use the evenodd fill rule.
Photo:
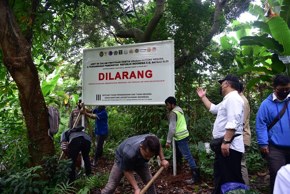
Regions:
<instances>
[{"instance_id":1,"label":"dark trousers of the man in the bright blue hoodie","mask_svg":"<svg viewBox=\"0 0 290 194\"><path fill-rule=\"evenodd\" d=\"M269 155L266 156L266 159L269 167L271 193L273 193L278 170L282 166L290 164L290 148L278 147L269 143Z\"/></svg>"}]
</instances>

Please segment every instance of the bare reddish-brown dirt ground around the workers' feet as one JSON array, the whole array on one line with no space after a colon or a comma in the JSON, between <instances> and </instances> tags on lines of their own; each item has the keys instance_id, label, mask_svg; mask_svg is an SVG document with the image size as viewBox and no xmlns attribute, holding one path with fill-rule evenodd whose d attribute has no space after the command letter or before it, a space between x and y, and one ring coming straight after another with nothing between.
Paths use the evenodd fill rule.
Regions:
<instances>
[{"instance_id":1,"label":"bare reddish-brown dirt ground around the workers' feet","mask_svg":"<svg viewBox=\"0 0 290 194\"><path fill-rule=\"evenodd\" d=\"M93 158L91 159L93 163ZM100 173L102 176L104 173L110 172L113 167L113 160L108 159L106 156L99 158L98 166L92 167L92 174ZM159 170L158 165L150 164L152 176ZM139 178L139 176L134 173L135 179L139 188L143 188L145 185ZM213 191L214 184L211 179L203 179L202 174L200 176L201 182L198 184L187 185L184 180L191 179L191 172L189 166L186 162L177 165L177 175L173 176L173 165L170 163L167 169L164 169L162 173L155 179L154 184L157 193L164 194L187 194L187 193L198 193L198 194L208 194ZM266 172L256 172L254 174L249 174L250 188L254 191L260 191L261 194L269 194L269 171ZM93 193L101 193L103 188L96 188ZM131 191L131 192L130 192ZM133 188L129 182L123 177L119 183L114 194L120 193L134 193Z\"/></svg>"}]
</instances>

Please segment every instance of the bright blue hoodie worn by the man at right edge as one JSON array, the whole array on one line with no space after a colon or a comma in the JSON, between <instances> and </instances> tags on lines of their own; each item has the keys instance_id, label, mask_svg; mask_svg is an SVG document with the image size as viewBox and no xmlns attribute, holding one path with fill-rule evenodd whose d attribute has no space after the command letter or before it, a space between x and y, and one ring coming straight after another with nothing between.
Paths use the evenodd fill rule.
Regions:
<instances>
[{"instance_id":1,"label":"bright blue hoodie worn by the man at right edge","mask_svg":"<svg viewBox=\"0 0 290 194\"><path fill-rule=\"evenodd\" d=\"M290 117L289 106L281 119L267 131L267 126L271 125L273 120L282 110L283 106L290 98L283 102L273 101L273 93L262 103L256 118L257 142L260 147L267 147L269 143L280 147L290 147Z\"/></svg>"}]
</instances>

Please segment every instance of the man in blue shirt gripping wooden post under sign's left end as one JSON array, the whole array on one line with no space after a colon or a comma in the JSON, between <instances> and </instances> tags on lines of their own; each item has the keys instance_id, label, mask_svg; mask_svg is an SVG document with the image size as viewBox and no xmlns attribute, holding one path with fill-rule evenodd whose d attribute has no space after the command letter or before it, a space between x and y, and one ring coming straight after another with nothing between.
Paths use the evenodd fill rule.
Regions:
<instances>
[{"instance_id":1,"label":"man in blue shirt gripping wooden post under sign's left end","mask_svg":"<svg viewBox=\"0 0 290 194\"><path fill-rule=\"evenodd\" d=\"M96 135L96 151L93 166L97 166L97 160L103 154L103 145L106 137L108 136L108 113L106 106L98 106L98 108L87 109L86 112L80 110L79 112L86 115L91 119L95 119L95 135ZM89 113L95 114L91 115Z\"/></svg>"}]
</instances>

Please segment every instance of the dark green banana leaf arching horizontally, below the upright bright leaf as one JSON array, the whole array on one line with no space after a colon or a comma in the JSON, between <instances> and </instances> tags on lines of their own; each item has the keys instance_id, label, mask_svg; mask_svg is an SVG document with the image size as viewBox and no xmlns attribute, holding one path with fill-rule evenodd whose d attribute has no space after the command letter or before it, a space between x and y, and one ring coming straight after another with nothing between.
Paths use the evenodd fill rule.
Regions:
<instances>
[{"instance_id":1,"label":"dark green banana leaf arching horizontally, below the upright bright leaf","mask_svg":"<svg viewBox=\"0 0 290 194\"><path fill-rule=\"evenodd\" d=\"M278 50L279 52L283 52L283 46L279 44L277 40L270 37L264 36L244 36L240 39L240 45L258 45L260 47L266 47L271 50Z\"/></svg>"}]
</instances>

